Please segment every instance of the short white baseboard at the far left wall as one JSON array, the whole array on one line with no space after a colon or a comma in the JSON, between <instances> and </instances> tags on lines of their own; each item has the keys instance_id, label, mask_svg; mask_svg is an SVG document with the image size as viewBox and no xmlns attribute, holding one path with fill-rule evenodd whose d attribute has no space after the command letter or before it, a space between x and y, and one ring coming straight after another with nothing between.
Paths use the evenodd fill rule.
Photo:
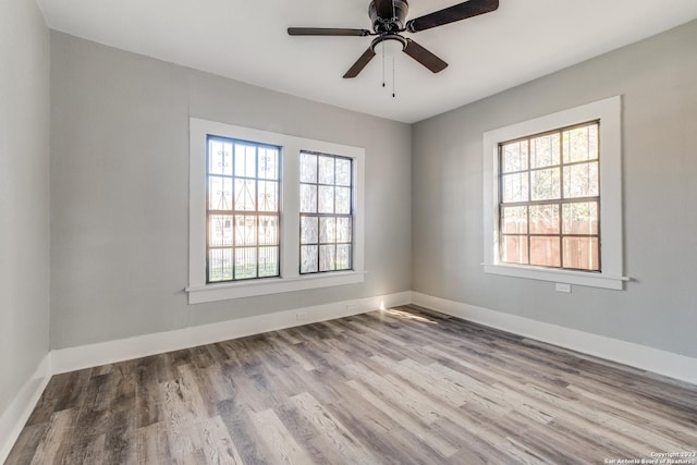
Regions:
<instances>
[{"instance_id":1,"label":"short white baseboard at the far left wall","mask_svg":"<svg viewBox=\"0 0 697 465\"><path fill-rule=\"evenodd\" d=\"M10 406L0 416L0 464L4 463L10 451L29 419L32 411L39 402L46 384L51 379L51 355L39 362L34 376L24 383Z\"/></svg>"}]
</instances>

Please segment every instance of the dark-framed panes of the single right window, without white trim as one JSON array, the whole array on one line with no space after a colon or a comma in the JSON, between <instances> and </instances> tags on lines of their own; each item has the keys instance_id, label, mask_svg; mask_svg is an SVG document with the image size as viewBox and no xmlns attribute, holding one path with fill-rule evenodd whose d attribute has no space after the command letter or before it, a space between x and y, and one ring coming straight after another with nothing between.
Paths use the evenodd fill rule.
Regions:
<instances>
[{"instance_id":1,"label":"dark-framed panes of the single right window, without white trim","mask_svg":"<svg viewBox=\"0 0 697 465\"><path fill-rule=\"evenodd\" d=\"M600 271L599 126L499 144L501 262Z\"/></svg>"}]
</instances>

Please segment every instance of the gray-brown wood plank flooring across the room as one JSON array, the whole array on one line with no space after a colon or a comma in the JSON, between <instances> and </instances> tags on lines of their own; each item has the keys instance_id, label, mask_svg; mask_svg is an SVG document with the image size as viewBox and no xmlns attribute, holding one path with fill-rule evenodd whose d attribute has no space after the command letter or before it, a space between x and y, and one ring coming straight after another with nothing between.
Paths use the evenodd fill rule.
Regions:
<instances>
[{"instance_id":1,"label":"gray-brown wood plank flooring across the room","mask_svg":"<svg viewBox=\"0 0 697 465\"><path fill-rule=\"evenodd\" d=\"M54 376L7 464L602 464L696 450L697 387L409 306Z\"/></svg>"}]
</instances>

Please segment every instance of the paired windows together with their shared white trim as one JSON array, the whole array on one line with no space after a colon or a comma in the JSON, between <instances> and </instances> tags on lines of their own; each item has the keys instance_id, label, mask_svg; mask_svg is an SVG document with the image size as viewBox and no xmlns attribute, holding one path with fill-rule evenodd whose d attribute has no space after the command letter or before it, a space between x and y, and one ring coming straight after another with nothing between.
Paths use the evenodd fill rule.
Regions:
<instances>
[{"instance_id":1,"label":"paired windows together with their shared white trim","mask_svg":"<svg viewBox=\"0 0 697 465\"><path fill-rule=\"evenodd\" d=\"M195 118L189 136L189 304L364 281L364 149Z\"/></svg>"}]
</instances>

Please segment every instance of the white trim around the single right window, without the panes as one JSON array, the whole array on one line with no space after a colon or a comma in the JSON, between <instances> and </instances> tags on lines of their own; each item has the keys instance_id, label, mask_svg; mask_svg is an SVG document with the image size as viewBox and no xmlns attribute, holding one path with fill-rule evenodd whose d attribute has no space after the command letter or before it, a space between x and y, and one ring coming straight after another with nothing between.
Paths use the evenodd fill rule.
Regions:
<instances>
[{"instance_id":1,"label":"white trim around the single right window, without the panes","mask_svg":"<svg viewBox=\"0 0 697 465\"><path fill-rule=\"evenodd\" d=\"M499 144L600 120L601 272L572 271L499 259ZM559 283L622 290L622 98L610 97L484 134L484 271Z\"/></svg>"}]
</instances>

